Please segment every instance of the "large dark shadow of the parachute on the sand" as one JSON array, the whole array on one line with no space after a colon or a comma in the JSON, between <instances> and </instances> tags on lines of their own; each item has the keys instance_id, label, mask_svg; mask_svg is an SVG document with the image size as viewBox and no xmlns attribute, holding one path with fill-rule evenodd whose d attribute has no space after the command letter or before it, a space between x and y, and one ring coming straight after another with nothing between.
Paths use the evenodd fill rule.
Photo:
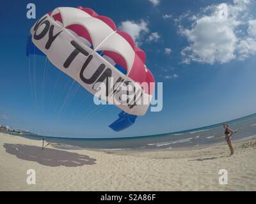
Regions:
<instances>
[{"instance_id":1,"label":"large dark shadow of the parachute on the sand","mask_svg":"<svg viewBox=\"0 0 256 204\"><path fill-rule=\"evenodd\" d=\"M10 143L4 143L3 147L7 153L15 155L19 159L35 161L45 166L76 167L96 164L96 159L89 156L63 150L45 148L42 151L41 147Z\"/></svg>"}]
</instances>

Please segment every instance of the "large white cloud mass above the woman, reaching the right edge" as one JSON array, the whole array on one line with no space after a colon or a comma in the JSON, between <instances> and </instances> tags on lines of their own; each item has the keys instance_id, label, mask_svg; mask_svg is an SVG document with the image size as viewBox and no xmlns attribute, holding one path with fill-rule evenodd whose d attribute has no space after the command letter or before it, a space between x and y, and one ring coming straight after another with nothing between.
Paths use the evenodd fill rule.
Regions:
<instances>
[{"instance_id":1,"label":"large white cloud mass above the woman, reaching the right edge","mask_svg":"<svg viewBox=\"0 0 256 204\"><path fill-rule=\"evenodd\" d=\"M189 17L192 21L190 28L179 25L180 34L189 42L181 51L182 62L223 64L255 54L255 40L248 36L237 36L239 25L244 24L249 24L248 35L256 35L256 21L246 20L249 3L250 0L234 0L233 4L207 6L198 15Z\"/></svg>"}]
</instances>

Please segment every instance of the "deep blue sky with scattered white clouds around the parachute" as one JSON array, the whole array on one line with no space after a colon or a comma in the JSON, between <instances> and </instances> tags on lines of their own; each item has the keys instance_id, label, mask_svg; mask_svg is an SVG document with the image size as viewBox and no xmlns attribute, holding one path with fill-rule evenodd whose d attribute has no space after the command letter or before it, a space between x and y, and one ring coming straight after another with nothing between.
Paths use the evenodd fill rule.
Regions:
<instances>
[{"instance_id":1,"label":"deep blue sky with scattered white clouds around the parachute","mask_svg":"<svg viewBox=\"0 0 256 204\"><path fill-rule=\"evenodd\" d=\"M89 7L112 18L147 54L163 82L163 110L115 133L115 106L93 96L45 57L26 57L36 19L59 6ZM0 124L39 135L118 138L170 133L256 112L256 3L253 0L5 1L0 8ZM30 73L30 77L29 77ZM45 76L45 77L44 77Z\"/></svg>"}]
</instances>

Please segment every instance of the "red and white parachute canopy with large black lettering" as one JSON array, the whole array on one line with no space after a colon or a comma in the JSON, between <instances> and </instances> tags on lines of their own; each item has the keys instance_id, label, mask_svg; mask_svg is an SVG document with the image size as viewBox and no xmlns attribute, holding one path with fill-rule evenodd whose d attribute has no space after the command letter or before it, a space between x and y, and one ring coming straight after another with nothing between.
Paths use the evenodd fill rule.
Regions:
<instances>
[{"instance_id":1,"label":"red and white parachute canopy with large black lettering","mask_svg":"<svg viewBox=\"0 0 256 204\"><path fill-rule=\"evenodd\" d=\"M122 109L126 116L147 112L154 92L154 77L145 66L145 52L134 45L129 34L118 31L111 18L81 6L60 7L40 18L30 33L33 44L56 68L92 94L97 94L97 82L106 84L108 78L113 78L106 101L111 94L118 94L121 85L136 84L140 87L140 103L137 100L109 102ZM145 98L147 103L143 101Z\"/></svg>"}]
</instances>

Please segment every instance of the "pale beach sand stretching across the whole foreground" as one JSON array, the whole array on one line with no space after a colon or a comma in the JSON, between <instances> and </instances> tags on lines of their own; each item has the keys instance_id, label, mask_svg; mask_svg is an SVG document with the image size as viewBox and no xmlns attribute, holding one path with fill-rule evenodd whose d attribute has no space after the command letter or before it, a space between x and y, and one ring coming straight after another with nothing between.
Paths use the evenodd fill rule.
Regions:
<instances>
[{"instance_id":1,"label":"pale beach sand stretching across the whole foreground","mask_svg":"<svg viewBox=\"0 0 256 204\"><path fill-rule=\"evenodd\" d=\"M256 139L193 150L60 150L0 133L0 191L255 191ZM27 170L36 172L28 185ZM218 174L228 171L228 184Z\"/></svg>"}]
</instances>

